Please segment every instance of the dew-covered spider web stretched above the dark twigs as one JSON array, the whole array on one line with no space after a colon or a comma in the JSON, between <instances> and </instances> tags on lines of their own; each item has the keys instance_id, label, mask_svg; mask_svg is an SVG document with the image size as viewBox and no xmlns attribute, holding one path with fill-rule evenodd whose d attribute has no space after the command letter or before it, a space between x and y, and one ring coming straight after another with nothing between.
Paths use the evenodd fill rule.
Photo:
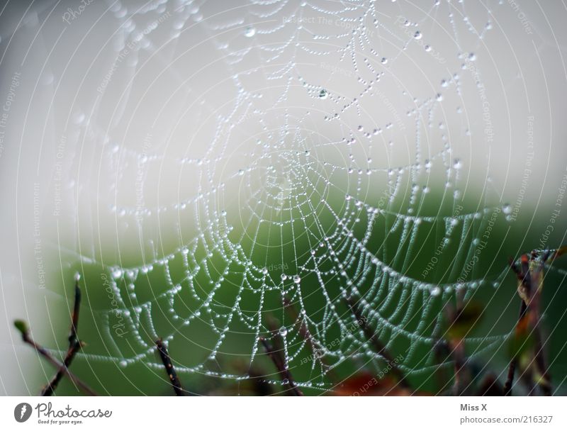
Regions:
<instances>
[{"instance_id":1,"label":"dew-covered spider web stretched above the dark twigs","mask_svg":"<svg viewBox=\"0 0 567 431\"><path fill-rule=\"evenodd\" d=\"M444 305L507 272L511 208L478 169L498 145L489 6L108 5L112 54L74 118L97 144L77 168L98 194L79 213L101 336L84 357L159 373L162 337L181 376L285 388L262 337L325 392L386 363L362 316L408 378L430 374ZM471 358L507 335L488 332L466 336Z\"/></svg>"}]
</instances>

